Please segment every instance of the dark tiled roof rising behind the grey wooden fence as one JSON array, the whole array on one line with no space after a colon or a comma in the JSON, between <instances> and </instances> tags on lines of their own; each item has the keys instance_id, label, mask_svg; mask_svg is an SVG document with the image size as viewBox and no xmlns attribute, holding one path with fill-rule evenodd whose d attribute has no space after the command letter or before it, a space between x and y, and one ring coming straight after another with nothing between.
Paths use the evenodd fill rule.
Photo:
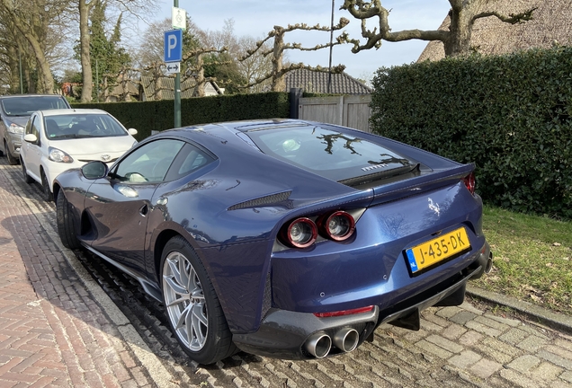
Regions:
<instances>
[{"instance_id":1,"label":"dark tiled roof rising behind the grey wooden fence","mask_svg":"<svg viewBox=\"0 0 572 388\"><path fill-rule=\"evenodd\" d=\"M328 73L297 69L286 73L286 92L292 88L304 89L309 93L334 93L334 94L369 94L371 88L362 84L345 73L332 74L330 91L327 90Z\"/></svg>"}]
</instances>

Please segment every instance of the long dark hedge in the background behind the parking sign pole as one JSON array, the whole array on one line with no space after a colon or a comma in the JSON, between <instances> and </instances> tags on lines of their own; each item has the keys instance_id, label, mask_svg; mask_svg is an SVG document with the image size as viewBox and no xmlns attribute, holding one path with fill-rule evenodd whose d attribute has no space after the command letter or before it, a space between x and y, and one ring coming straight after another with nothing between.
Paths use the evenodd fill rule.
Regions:
<instances>
[{"instance_id":1,"label":"long dark hedge in the background behind the parking sign pole","mask_svg":"<svg viewBox=\"0 0 572 388\"><path fill-rule=\"evenodd\" d=\"M73 103L73 108L106 110L126 128L136 128L142 140L153 130L174 127L174 101ZM239 119L285 119L290 117L288 93L232 94L181 99L183 127Z\"/></svg>"}]
</instances>

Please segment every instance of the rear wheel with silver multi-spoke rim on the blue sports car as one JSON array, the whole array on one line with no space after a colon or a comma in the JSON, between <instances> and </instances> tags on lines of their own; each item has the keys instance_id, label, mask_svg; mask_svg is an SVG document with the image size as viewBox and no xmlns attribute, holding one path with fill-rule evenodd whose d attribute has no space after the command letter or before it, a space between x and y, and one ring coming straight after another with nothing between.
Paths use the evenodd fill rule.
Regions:
<instances>
[{"instance_id":1,"label":"rear wheel with silver multi-spoke rim on the blue sports car","mask_svg":"<svg viewBox=\"0 0 572 388\"><path fill-rule=\"evenodd\" d=\"M181 236L165 245L161 279L171 330L189 357L208 365L237 352L207 271Z\"/></svg>"}]
</instances>

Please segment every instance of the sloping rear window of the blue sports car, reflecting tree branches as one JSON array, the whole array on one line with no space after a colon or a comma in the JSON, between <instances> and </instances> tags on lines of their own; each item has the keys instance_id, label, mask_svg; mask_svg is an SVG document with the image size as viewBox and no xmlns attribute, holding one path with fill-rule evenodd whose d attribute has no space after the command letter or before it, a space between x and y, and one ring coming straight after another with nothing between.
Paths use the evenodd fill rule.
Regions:
<instances>
[{"instance_id":1,"label":"sloping rear window of the blue sports car, reflecting tree branches","mask_svg":"<svg viewBox=\"0 0 572 388\"><path fill-rule=\"evenodd\" d=\"M264 154L333 181L411 171L415 162L361 137L317 126L246 132Z\"/></svg>"}]
</instances>

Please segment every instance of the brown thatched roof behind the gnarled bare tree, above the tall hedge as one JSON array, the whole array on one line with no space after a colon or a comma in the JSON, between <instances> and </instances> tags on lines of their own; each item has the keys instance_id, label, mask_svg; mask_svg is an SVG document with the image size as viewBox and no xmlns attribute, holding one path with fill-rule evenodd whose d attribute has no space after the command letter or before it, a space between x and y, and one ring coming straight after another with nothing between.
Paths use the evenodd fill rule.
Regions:
<instances>
[{"instance_id":1,"label":"brown thatched roof behind the gnarled bare tree, above the tall hedge","mask_svg":"<svg viewBox=\"0 0 572 388\"><path fill-rule=\"evenodd\" d=\"M471 36L471 46L485 55L511 53L526 48L550 48L555 43L572 45L572 2L570 0L499 0L496 11L510 14L521 13L538 7L532 13L532 21L509 24L496 17L478 19ZM490 5L479 11L489 10ZM449 16L442 22L440 30L447 30ZM439 60L445 56L441 41L431 41L421 53L418 62Z\"/></svg>"}]
</instances>

